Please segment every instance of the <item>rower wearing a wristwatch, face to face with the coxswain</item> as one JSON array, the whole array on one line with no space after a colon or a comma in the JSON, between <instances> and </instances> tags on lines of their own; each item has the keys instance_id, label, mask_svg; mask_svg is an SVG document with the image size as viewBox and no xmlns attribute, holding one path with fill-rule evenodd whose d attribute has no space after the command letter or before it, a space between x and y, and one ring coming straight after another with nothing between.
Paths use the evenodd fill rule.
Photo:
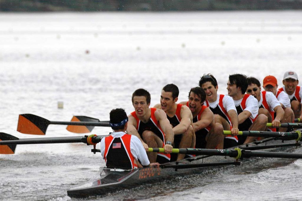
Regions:
<instances>
[{"instance_id":1,"label":"rower wearing a wristwatch, face to face with the coxswain","mask_svg":"<svg viewBox=\"0 0 302 201\"><path fill-rule=\"evenodd\" d=\"M151 96L145 89L137 89L132 94L132 104L135 109L129 117L127 133L136 135L148 148L164 148L165 153L148 152L151 163L170 161L174 132L167 115L161 109L149 108Z\"/></svg>"}]
</instances>

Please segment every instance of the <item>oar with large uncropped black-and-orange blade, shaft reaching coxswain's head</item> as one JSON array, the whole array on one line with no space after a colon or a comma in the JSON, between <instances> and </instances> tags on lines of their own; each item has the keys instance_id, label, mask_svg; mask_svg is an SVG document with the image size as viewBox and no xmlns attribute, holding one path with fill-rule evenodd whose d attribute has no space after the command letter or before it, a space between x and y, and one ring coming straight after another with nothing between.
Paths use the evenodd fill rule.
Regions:
<instances>
[{"instance_id":1,"label":"oar with large uncropped black-and-orange blade, shaft reaching coxswain's head","mask_svg":"<svg viewBox=\"0 0 302 201\"><path fill-rule=\"evenodd\" d=\"M25 134L45 135L48 125L77 125L84 133L90 132L89 127L93 126L106 126L110 127L109 122L57 122L49 121L45 118L33 114L19 115L17 131Z\"/></svg>"}]
</instances>

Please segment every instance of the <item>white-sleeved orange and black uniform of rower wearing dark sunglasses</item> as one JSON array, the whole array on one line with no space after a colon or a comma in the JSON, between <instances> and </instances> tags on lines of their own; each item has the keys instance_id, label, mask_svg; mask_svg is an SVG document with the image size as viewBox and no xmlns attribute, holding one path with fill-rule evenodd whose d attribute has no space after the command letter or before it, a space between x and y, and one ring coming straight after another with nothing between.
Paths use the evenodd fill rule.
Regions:
<instances>
[{"instance_id":1,"label":"white-sleeved orange and black uniform of rower wearing dark sunglasses","mask_svg":"<svg viewBox=\"0 0 302 201\"><path fill-rule=\"evenodd\" d=\"M277 106L281 106L278 99L272 92L262 91L260 93L260 101L258 102L259 108L265 108L271 114L272 120L275 119L275 111L274 108ZM268 128L268 130L275 132L276 128Z\"/></svg>"}]
</instances>

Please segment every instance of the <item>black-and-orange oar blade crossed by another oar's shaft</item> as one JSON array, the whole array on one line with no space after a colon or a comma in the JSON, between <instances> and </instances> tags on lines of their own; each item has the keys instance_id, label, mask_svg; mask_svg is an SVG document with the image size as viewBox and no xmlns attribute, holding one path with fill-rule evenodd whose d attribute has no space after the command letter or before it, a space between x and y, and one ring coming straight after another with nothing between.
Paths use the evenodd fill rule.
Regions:
<instances>
[{"instance_id":1,"label":"black-and-orange oar blade crossed by another oar's shaft","mask_svg":"<svg viewBox=\"0 0 302 201\"><path fill-rule=\"evenodd\" d=\"M99 122L100 120L87 116L73 116L71 119L72 122ZM72 133L90 133L94 126L74 126L68 125L66 127L67 131Z\"/></svg>"}]
</instances>

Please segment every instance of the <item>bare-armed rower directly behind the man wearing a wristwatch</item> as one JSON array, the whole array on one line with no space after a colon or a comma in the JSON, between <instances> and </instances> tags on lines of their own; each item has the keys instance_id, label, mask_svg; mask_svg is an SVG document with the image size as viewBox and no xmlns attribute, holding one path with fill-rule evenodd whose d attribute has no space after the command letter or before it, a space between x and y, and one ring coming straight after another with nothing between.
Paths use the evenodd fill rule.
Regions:
<instances>
[{"instance_id":1,"label":"bare-armed rower directly behind the man wearing a wristwatch","mask_svg":"<svg viewBox=\"0 0 302 201\"><path fill-rule=\"evenodd\" d=\"M194 148L195 133L193 130L193 116L190 109L182 104L177 104L179 89L175 84L167 84L162 88L160 103L154 108L165 111L173 128L173 148ZM172 154L171 161L181 160L185 154Z\"/></svg>"}]
</instances>

